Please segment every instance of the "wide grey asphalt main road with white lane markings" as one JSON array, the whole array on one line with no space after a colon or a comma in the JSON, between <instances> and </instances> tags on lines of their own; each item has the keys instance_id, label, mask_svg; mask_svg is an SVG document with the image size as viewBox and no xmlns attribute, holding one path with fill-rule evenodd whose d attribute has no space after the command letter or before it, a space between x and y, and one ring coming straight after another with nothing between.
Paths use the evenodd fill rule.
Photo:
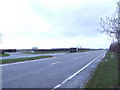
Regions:
<instances>
[{"instance_id":1,"label":"wide grey asphalt main road with white lane markings","mask_svg":"<svg viewBox=\"0 0 120 90\"><path fill-rule=\"evenodd\" d=\"M3 88L76 88L88 78L106 51L70 53L53 58L5 64Z\"/></svg>"}]
</instances>

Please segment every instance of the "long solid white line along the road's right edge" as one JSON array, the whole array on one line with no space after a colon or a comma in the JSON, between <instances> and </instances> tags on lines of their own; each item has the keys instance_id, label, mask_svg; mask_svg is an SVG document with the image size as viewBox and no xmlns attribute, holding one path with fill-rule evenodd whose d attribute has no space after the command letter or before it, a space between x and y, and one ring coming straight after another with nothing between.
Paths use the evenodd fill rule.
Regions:
<instances>
[{"instance_id":1,"label":"long solid white line along the road's right edge","mask_svg":"<svg viewBox=\"0 0 120 90\"><path fill-rule=\"evenodd\" d=\"M102 55L102 54L101 54ZM91 62L89 62L88 64L86 64L84 67L82 67L80 70L78 70L76 73L74 73L73 75L71 75L70 77L68 77L67 79L65 79L62 83L56 85L52 90L55 90L57 88L59 88L62 84L64 84L65 82L67 82L68 80L70 80L71 78L73 78L74 76L76 76L78 73L80 73L82 70L84 70L85 68L87 68L92 62L94 62L97 58L99 58L101 55L97 56L95 59L93 59Z\"/></svg>"}]
</instances>

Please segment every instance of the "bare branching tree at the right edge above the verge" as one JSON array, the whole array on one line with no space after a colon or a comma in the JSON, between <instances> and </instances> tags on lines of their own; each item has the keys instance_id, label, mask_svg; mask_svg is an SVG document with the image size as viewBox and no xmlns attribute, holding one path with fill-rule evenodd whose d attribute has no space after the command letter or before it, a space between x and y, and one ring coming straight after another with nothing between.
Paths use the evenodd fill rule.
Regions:
<instances>
[{"instance_id":1,"label":"bare branching tree at the right edge above the verge","mask_svg":"<svg viewBox=\"0 0 120 90\"><path fill-rule=\"evenodd\" d=\"M100 21L100 32L105 32L110 37L113 38L114 41L118 41L120 43L120 1L117 3L118 7L116 8L116 15L114 18L106 17L104 20L101 18Z\"/></svg>"}]
</instances>

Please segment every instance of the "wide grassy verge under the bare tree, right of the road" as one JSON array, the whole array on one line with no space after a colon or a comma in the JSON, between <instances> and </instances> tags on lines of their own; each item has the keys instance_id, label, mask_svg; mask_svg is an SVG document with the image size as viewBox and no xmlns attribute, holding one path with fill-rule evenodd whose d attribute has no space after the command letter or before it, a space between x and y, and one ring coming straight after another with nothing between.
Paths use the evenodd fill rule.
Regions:
<instances>
[{"instance_id":1,"label":"wide grassy verge under the bare tree, right of the road","mask_svg":"<svg viewBox=\"0 0 120 90\"><path fill-rule=\"evenodd\" d=\"M111 58L113 55L113 58ZM106 61L108 60L108 61ZM110 51L91 75L85 88L118 87L118 56Z\"/></svg>"}]
</instances>

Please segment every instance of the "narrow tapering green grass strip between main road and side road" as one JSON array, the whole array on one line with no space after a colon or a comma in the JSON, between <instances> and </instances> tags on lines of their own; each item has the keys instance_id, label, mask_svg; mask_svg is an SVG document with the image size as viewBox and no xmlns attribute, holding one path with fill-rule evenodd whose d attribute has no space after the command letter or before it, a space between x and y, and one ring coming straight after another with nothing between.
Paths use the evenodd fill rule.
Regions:
<instances>
[{"instance_id":1,"label":"narrow tapering green grass strip between main road and side road","mask_svg":"<svg viewBox=\"0 0 120 90\"><path fill-rule=\"evenodd\" d=\"M53 57L53 56L37 56L37 57L27 57L27 58L4 59L4 60L0 60L0 63L1 64L5 64L5 63L13 63L13 62L20 62L20 61L29 61L29 60L49 58L49 57Z\"/></svg>"}]
</instances>

